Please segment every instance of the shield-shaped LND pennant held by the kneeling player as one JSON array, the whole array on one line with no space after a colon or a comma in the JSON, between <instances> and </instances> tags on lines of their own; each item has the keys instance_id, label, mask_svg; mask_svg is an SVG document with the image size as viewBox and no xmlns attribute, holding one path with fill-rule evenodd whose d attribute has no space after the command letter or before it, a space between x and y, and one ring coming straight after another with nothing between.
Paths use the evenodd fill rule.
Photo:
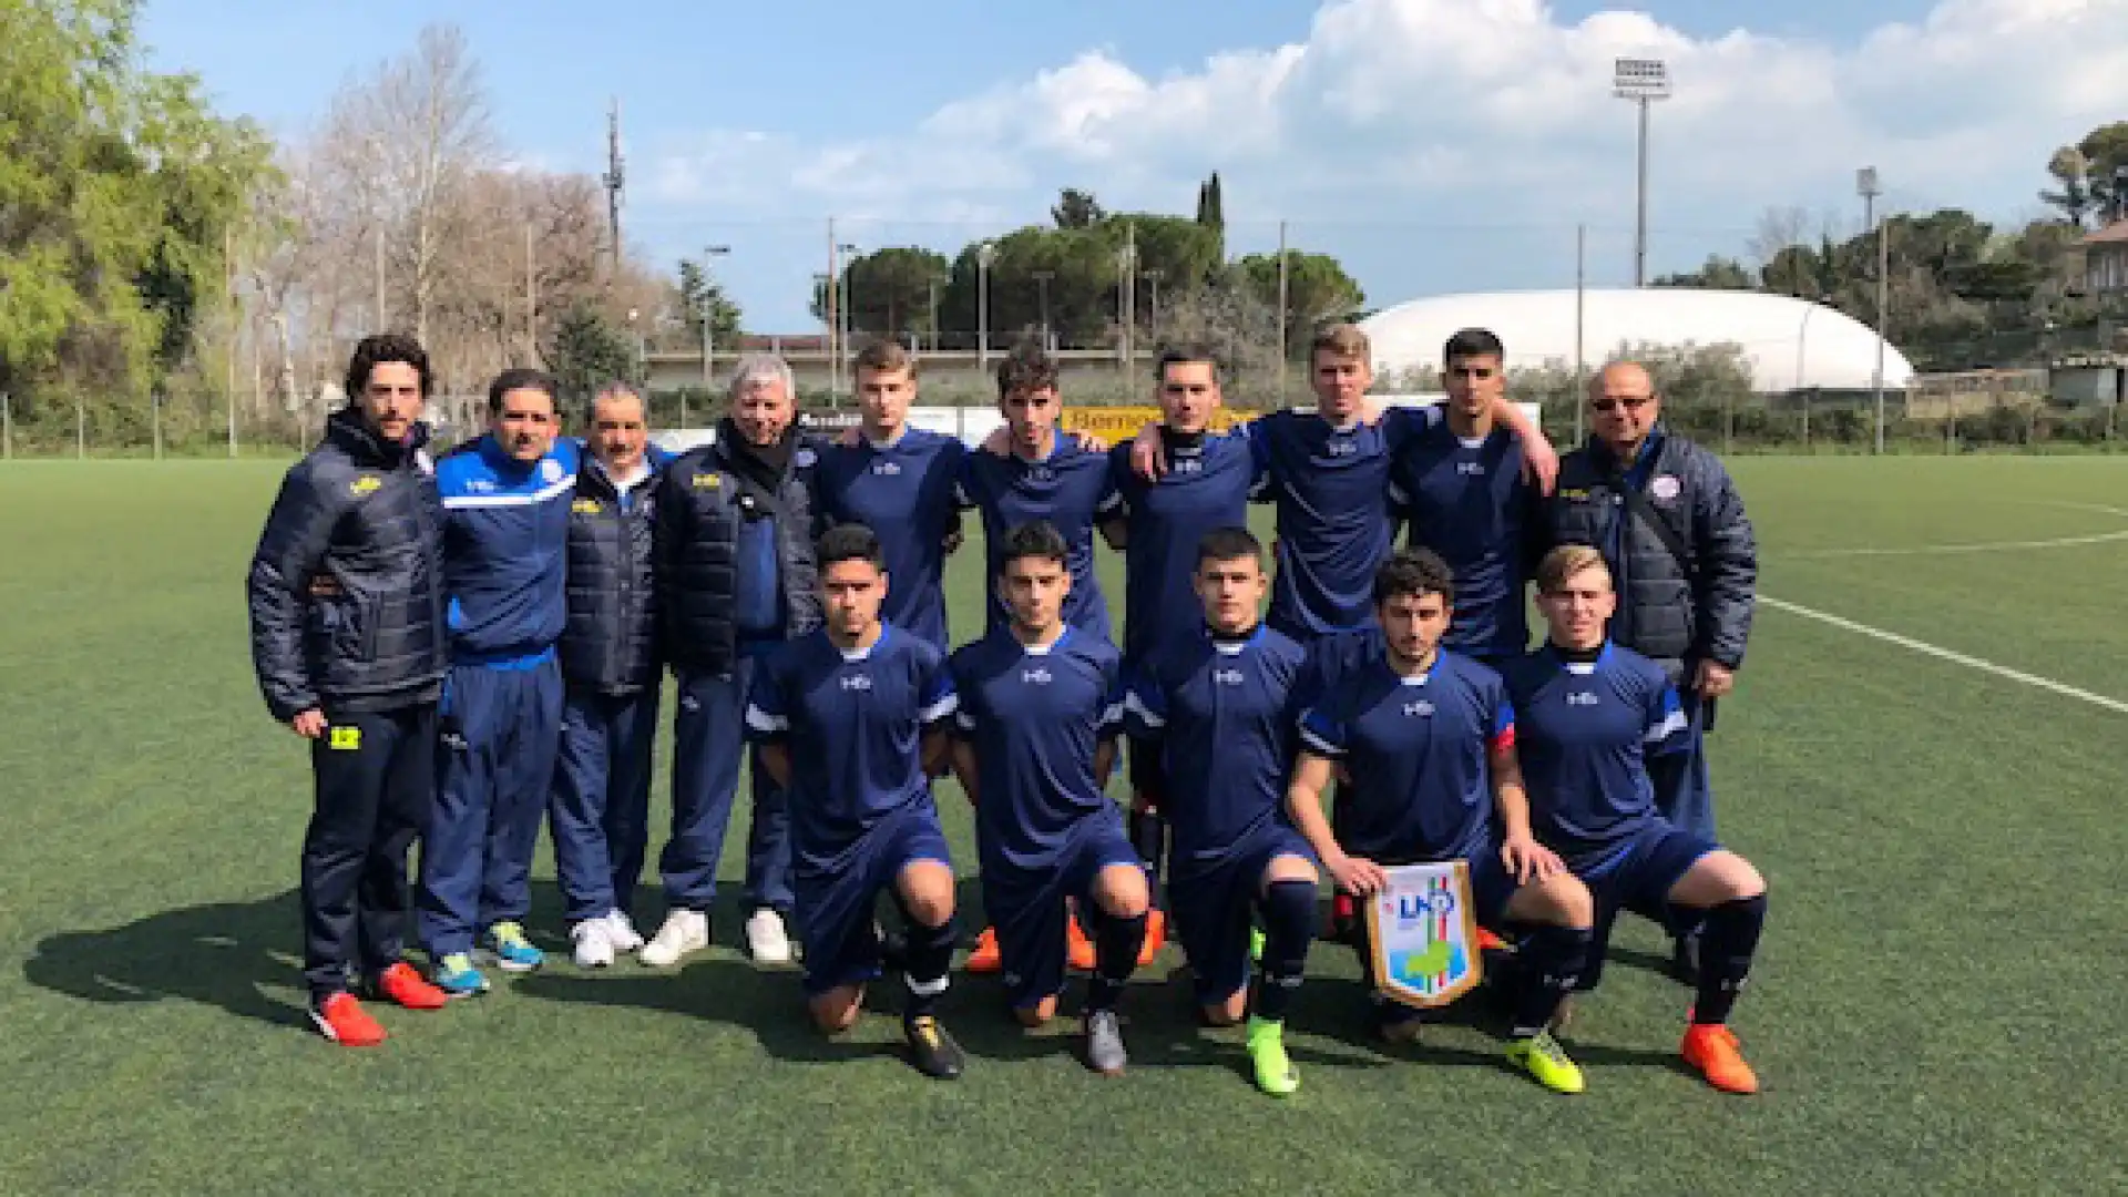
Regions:
<instances>
[{"instance_id":1,"label":"shield-shaped LND pennant held by the kneeling player","mask_svg":"<svg viewBox=\"0 0 2128 1197\"><path fill-rule=\"evenodd\" d=\"M1483 980L1470 867L1462 860L1383 869L1390 884L1366 907L1375 984L1390 1001L1434 1010Z\"/></svg>"}]
</instances>

